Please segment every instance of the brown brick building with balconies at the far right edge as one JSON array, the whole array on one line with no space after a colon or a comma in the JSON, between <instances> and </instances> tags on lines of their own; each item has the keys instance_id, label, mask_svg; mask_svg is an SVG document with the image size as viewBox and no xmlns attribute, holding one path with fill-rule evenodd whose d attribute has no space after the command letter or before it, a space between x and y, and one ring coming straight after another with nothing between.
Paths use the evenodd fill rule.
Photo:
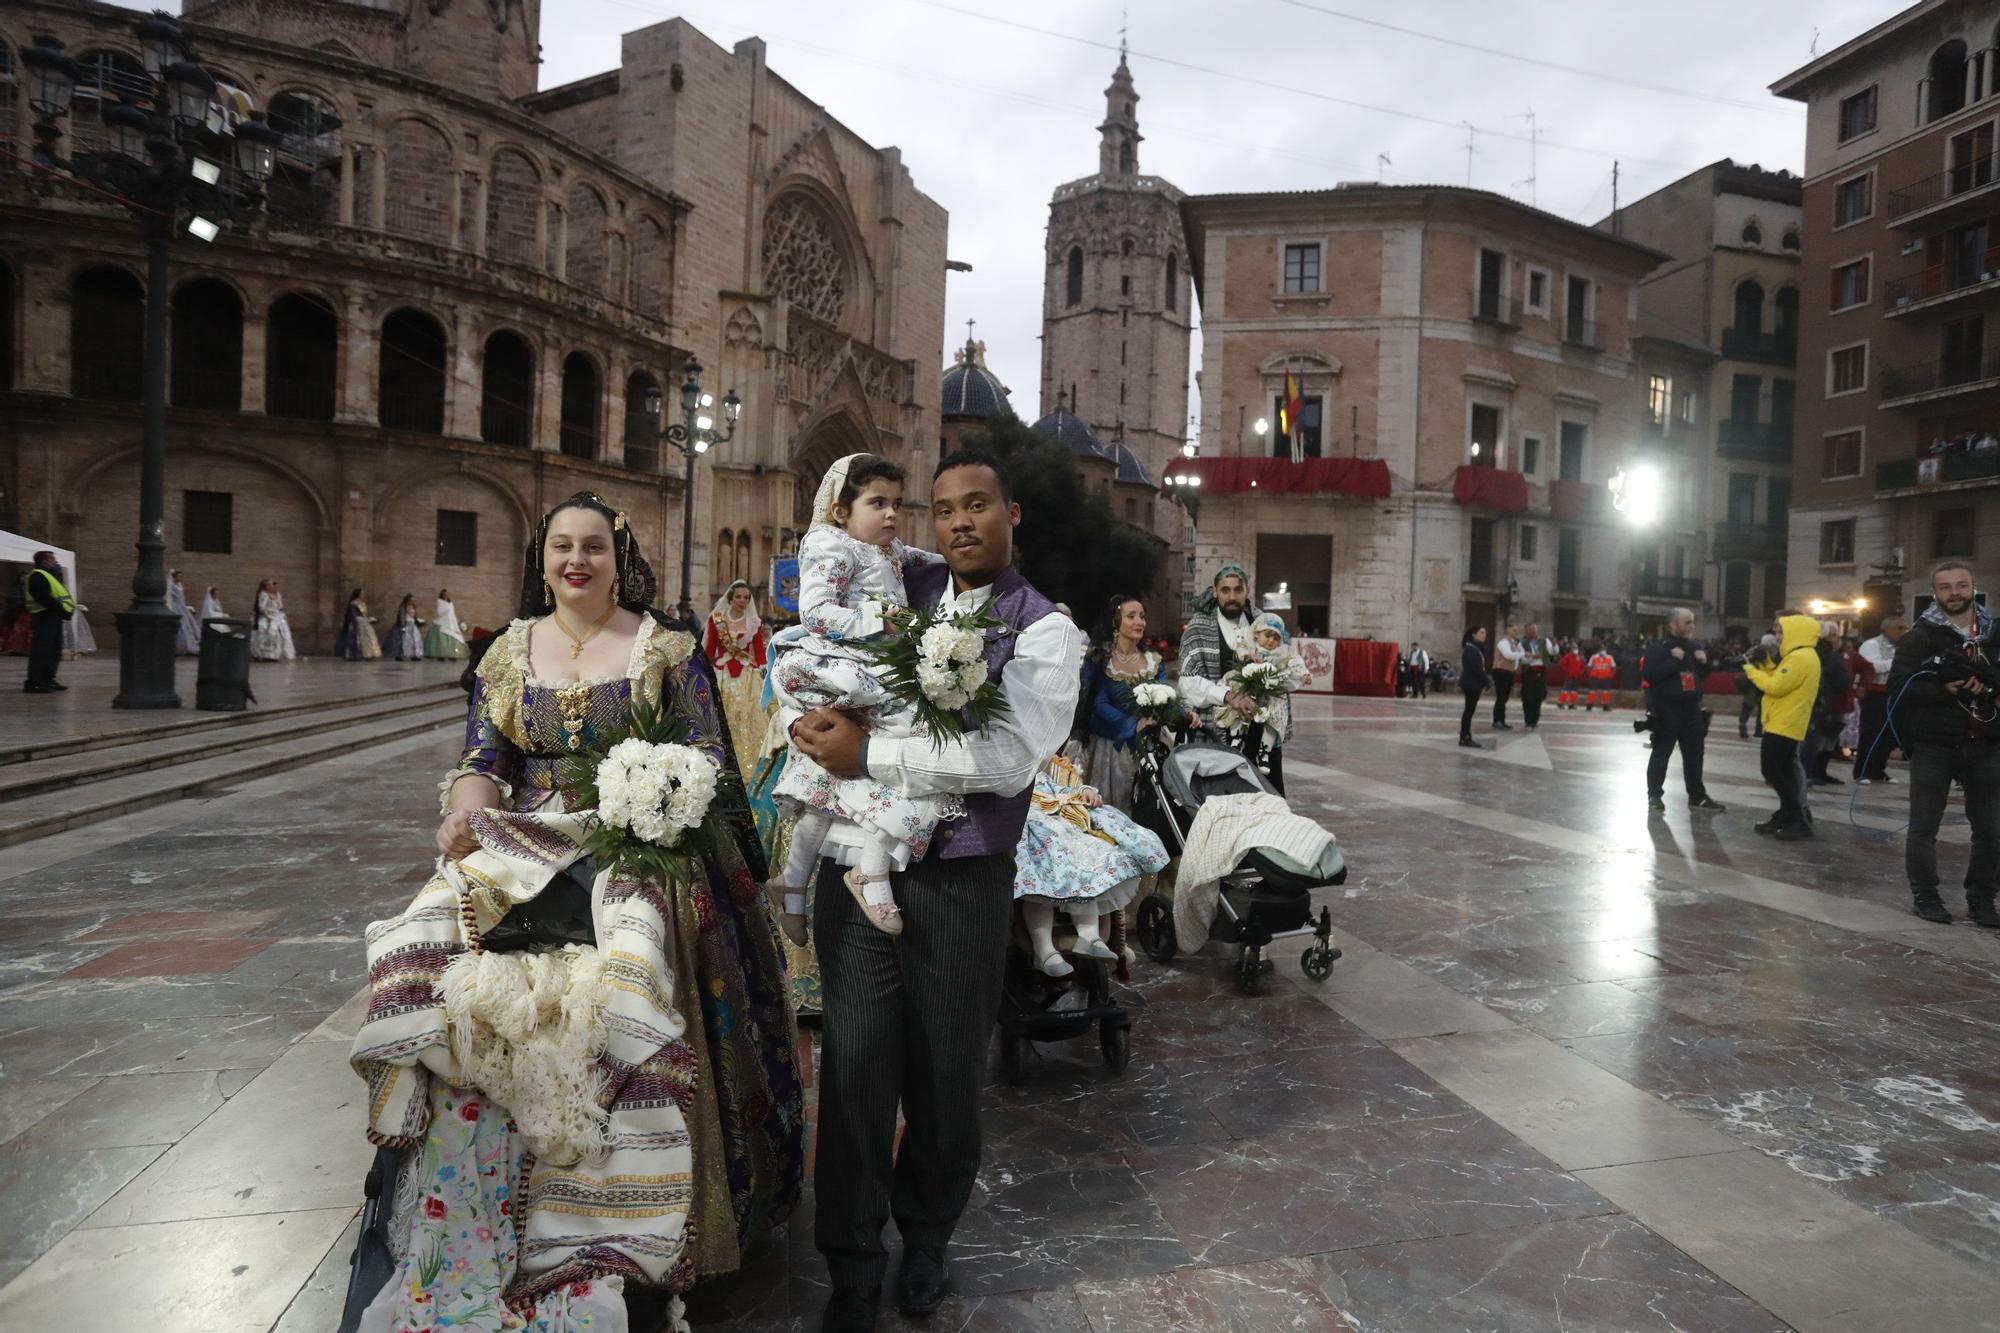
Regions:
<instances>
[{"instance_id":1,"label":"brown brick building with balconies at the far right edge","mask_svg":"<svg viewBox=\"0 0 2000 1333\"><path fill-rule=\"evenodd\" d=\"M2000 582L2000 4L1924 0L1772 92L1806 104L1790 596L1872 628L1942 558Z\"/></svg>"}]
</instances>

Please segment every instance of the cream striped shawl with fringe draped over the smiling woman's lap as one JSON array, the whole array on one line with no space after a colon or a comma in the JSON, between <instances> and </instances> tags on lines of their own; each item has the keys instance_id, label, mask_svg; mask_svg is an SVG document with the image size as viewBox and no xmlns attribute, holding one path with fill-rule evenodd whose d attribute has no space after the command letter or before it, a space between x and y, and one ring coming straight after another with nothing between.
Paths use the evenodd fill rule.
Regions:
<instances>
[{"instance_id":1,"label":"cream striped shawl with fringe draped over the smiling woman's lap","mask_svg":"<svg viewBox=\"0 0 2000 1333\"><path fill-rule=\"evenodd\" d=\"M586 829L576 815L480 811L472 835L478 851L368 927L368 1017L350 1057L368 1083L368 1137L416 1147L440 1113L470 1123L478 1109L454 1107L470 1087L502 1105L544 1097L554 1111L518 1115L538 1137L502 1209L520 1227L508 1297L614 1273L670 1285L688 1251L684 1113L700 1075L674 1003L674 913L658 889L604 871L590 891L596 949L476 953L510 907L582 857ZM468 975L482 959L496 967ZM578 1109L578 1093L592 1105Z\"/></svg>"}]
</instances>

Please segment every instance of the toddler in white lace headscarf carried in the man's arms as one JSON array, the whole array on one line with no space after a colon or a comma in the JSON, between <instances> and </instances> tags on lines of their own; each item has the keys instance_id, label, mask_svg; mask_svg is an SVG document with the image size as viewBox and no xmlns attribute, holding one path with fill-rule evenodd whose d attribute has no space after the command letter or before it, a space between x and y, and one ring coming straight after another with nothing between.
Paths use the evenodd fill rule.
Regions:
<instances>
[{"instance_id":1,"label":"toddler in white lace headscarf carried in the man's arms","mask_svg":"<svg viewBox=\"0 0 2000 1333\"><path fill-rule=\"evenodd\" d=\"M772 640L770 687L786 733L814 709L852 713L874 735L912 733L912 711L882 685L860 646L906 608L904 568L942 558L896 540L902 480L888 458L848 454L820 482L812 526L798 544L800 624ZM868 923L902 935L890 871L920 859L938 819L958 815L958 803L904 797L866 777L836 779L798 747L786 755L772 797L798 817L784 871L766 885L782 907L786 939L806 943L806 885L828 845L852 859L844 879Z\"/></svg>"}]
</instances>

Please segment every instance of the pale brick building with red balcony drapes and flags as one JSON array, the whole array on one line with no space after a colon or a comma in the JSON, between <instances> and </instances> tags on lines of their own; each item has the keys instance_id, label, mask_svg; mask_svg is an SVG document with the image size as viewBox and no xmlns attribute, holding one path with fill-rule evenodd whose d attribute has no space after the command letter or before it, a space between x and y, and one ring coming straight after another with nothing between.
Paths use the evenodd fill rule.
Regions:
<instances>
[{"instance_id":1,"label":"pale brick building with red balcony drapes and flags","mask_svg":"<svg viewBox=\"0 0 2000 1333\"><path fill-rule=\"evenodd\" d=\"M1202 568L1310 634L1632 632L1606 482L1634 458L1636 286L1664 256L1484 190L1190 196ZM1296 446L1276 428L1286 374ZM1262 424L1264 432L1258 432Z\"/></svg>"}]
</instances>

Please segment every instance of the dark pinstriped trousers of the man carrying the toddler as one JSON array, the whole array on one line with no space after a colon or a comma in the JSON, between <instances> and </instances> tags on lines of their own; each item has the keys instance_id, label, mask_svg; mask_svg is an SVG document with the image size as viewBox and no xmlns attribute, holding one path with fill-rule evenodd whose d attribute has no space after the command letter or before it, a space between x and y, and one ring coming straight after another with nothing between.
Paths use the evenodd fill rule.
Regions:
<instances>
[{"instance_id":1,"label":"dark pinstriped trousers of the man carrying the toddler","mask_svg":"<svg viewBox=\"0 0 2000 1333\"><path fill-rule=\"evenodd\" d=\"M980 1171L980 1087L1000 1011L1014 855L930 857L894 877L902 935L862 917L820 863L820 1139L814 1243L836 1287L876 1289L882 1225L942 1251ZM896 1107L902 1149L896 1149Z\"/></svg>"}]
</instances>

